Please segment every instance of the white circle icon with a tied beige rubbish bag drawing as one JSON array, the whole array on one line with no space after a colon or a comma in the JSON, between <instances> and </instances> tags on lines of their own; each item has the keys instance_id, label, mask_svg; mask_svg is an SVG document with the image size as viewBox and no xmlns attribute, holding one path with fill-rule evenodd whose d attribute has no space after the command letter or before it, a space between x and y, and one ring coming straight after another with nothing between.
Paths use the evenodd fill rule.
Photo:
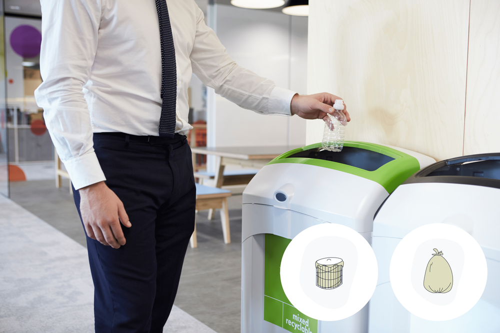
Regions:
<instances>
[{"instance_id":1,"label":"white circle icon with a tied beige rubbish bag drawing","mask_svg":"<svg viewBox=\"0 0 500 333\"><path fill-rule=\"evenodd\" d=\"M392 254L389 278L401 305L413 315L446 321L469 311L481 298L486 258L464 230L445 223L408 233Z\"/></svg>"}]
</instances>

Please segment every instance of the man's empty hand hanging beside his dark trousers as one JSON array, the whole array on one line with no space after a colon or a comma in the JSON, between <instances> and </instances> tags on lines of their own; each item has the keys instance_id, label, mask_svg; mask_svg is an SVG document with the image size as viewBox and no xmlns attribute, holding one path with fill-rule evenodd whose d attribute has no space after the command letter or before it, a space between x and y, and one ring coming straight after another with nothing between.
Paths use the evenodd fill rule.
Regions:
<instances>
[{"instance_id":1,"label":"man's empty hand hanging beside his dark trousers","mask_svg":"<svg viewBox=\"0 0 500 333\"><path fill-rule=\"evenodd\" d=\"M104 182L83 187L78 191L80 214L87 236L114 249L125 245L120 221L127 228L132 225L116 194Z\"/></svg>"}]
</instances>

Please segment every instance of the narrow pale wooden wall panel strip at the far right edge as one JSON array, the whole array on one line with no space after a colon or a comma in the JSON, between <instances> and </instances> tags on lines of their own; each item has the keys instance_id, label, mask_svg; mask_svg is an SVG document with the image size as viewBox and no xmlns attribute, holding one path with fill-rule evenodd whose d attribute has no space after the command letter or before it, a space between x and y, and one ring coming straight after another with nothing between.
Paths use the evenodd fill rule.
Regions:
<instances>
[{"instance_id":1,"label":"narrow pale wooden wall panel strip at the far right edge","mask_svg":"<svg viewBox=\"0 0 500 333\"><path fill-rule=\"evenodd\" d=\"M471 0L464 155L500 152L500 1Z\"/></svg>"}]
</instances>

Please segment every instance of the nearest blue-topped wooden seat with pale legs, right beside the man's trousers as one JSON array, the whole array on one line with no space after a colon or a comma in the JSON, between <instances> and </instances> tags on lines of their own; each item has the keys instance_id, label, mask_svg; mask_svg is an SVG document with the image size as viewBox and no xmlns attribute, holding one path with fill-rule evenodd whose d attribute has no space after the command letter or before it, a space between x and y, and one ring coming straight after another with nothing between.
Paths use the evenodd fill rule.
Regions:
<instances>
[{"instance_id":1,"label":"nearest blue-topped wooden seat with pale legs, right beside the man's trousers","mask_svg":"<svg viewBox=\"0 0 500 333\"><path fill-rule=\"evenodd\" d=\"M196 183L196 211L220 209L220 222L222 224L222 234L225 244L231 243L229 213L227 211L227 197L230 196L231 191ZM198 246L196 239L196 224L194 224L194 232L191 235L189 244L191 248L196 248Z\"/></svg>"}]
</instances>

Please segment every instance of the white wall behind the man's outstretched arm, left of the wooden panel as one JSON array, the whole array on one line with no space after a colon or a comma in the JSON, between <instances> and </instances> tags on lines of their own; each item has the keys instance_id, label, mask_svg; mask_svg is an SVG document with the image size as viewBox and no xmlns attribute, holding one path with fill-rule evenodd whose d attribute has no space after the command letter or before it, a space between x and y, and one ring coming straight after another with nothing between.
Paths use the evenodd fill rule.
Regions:
<instances>
[{"instance_id":1,"label":"white wall behind the man's outstretched arm, left of the wooden panel","mask_svg":"<svg viewBox=\"0 0 500 333\"><path fill-rule=\"evenodd\" d=\"M279 12L210 5L210 25L241 66L298 93L306 92L307 18ZM210 12L210 10L214 10ZM210 21L210 20L209 20ZM305 121L264 116L242 109L209 89L207 145L284 146L305 144Z\"/></svg>"}]
</instances>

